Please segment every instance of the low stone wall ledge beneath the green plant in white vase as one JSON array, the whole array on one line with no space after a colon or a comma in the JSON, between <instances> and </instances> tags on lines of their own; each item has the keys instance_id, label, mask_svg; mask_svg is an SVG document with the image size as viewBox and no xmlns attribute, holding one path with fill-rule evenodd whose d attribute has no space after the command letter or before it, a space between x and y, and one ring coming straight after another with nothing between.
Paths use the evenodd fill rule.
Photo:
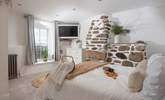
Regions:
<instances>
[{"instance_id":1,"label":"low stone wall ledge beneath the green plant in white vase","mask_svg":"<svg viewBox=\"0 0 165 100\"><path fill-rule=\"evenodd\" d=\"M111 44L107 50L107 61L112 64L135 67L143 59L146 59L145 44Z\"/></svg>"}]
</instances>

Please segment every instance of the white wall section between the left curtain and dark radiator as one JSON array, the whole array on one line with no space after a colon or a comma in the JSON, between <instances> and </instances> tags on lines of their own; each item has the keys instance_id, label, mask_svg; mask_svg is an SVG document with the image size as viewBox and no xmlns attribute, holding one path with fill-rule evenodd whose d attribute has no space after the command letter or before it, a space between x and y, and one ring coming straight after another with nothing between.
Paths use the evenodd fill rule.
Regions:
<instances>
[{"instance_id":1,"label":"white wall section between the left curtain and dark radiator","mask_svg":"<svg viewBox=\"0 0 165 100\"><path fill-rule=\"evenodd\" d=\"M18 72L21 72L24 66L27 32L24 14L10 9L8 29L8 53L18 55Z\"/></svg>"}]
</instances>

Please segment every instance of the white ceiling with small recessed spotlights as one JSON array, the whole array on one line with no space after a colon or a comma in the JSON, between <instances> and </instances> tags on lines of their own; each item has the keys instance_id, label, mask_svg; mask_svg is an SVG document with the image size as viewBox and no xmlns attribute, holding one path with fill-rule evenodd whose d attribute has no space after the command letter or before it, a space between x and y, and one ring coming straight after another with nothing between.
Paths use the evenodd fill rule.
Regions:
<instances>
[{"instance_id":1,"label":"white ceiling with small recessed spotlights","mask_svg":"<svg viewBox=\"0 0 165 100\"><path fill-rule=\"evenodd\" d=\"M164 0L13 0L13 9L46 20L81 21L91 16L164 4Z\"/></svg>"}]
</instances>

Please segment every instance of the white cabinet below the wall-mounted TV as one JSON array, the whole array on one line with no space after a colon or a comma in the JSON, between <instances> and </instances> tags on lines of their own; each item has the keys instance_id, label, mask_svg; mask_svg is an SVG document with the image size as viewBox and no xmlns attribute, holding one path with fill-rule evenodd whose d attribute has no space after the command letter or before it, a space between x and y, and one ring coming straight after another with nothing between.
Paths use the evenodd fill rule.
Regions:
<instances>
[{"instance_id":1,"label":"white cabinet below the wall-mounted TV","mask_svg":"<svg viewBox=\"0 0 165 100\"><path fill-rule=\"evenodd\" d=\"M79 64L82 62L82 49L81 48L67 48L66 50L67 56L72 56L75 64Z\"/></svg>"}]
</instances>

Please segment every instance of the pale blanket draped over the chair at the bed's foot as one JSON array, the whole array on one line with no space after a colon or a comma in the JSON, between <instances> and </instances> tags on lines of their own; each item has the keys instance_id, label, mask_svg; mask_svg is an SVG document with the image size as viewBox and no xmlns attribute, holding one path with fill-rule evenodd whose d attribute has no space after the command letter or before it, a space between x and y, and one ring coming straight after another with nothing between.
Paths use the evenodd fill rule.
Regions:
<instances>
[{"instance_id":1,"label":"pale blanket draped over the chair at the bed's foot","mask_svg":"<svg viewBox=\"0 0 165 100\"><path fill-rule=\"evenodd\" d=\"M74 69L74 63L72 62L63 62L60 63L57 69L52 71L48 77L48 81L54 84L56 90L60 90L65 77Z\"/></svg>"}]
</instances>

